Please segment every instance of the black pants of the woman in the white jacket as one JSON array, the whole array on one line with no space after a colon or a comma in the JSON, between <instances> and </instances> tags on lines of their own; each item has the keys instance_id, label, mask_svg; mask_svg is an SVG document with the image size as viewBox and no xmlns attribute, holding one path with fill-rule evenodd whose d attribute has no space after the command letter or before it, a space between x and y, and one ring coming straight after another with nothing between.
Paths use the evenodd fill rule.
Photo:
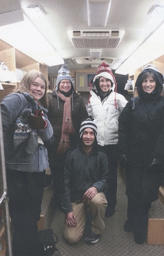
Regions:
<instances>
[{"instance_id":1,"label":"black pants of the woman in the white jacket","mask_svg":"<svg viewBox=\"0 0 164 256\"><path fill-rule=\"evenodd\" d=\"M98 145L98 150L104 152L108 157L108 188L106 192L106 199L108 202L107 211L114 211L116 206L116 195L117 195L117 167L119 160L119 149L118 145Z\"/></svg>"}]
</instances>

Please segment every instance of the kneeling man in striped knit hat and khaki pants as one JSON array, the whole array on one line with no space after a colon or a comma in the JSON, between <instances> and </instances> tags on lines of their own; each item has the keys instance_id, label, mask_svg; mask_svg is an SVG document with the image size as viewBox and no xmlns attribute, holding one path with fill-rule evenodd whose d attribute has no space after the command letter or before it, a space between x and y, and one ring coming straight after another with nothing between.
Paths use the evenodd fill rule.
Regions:
<instances>
[{"instance_id":1,"label":"kneeling man in striped knit hat and khaki pants","mask_svg":"<svg viewBox=\"0 0 164 256\"><path fill-rule=\"evenodd\" d=\"M97 126L88 118L80 127L78 148L68 152L64 167L65 193L61 205L65 213L64 236L70 244L83 236L87 208L93 221L92 230L86 237L89 244L97 243L105 228L104 215L107 207L108 160L97 151Z\"/></svg>"}]
</instances>

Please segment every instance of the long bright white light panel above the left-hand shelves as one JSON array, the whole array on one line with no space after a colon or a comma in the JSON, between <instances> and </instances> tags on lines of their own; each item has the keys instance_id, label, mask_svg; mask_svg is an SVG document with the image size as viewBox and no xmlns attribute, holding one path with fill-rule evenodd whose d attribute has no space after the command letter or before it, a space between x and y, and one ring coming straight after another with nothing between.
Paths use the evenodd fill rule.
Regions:
<instances>
[{"instance_id":1,"label":"long bright white light panel above the left-hand shelves","mask_svg":"<svg viewBox=\"0 0 164 256\"><path fill-rule=\"evenodd\" d=\"M24 16L24 21L0 27L0 38L34 60L46 65L64 64L40 31Z\"/></svg>"}]
</instances>

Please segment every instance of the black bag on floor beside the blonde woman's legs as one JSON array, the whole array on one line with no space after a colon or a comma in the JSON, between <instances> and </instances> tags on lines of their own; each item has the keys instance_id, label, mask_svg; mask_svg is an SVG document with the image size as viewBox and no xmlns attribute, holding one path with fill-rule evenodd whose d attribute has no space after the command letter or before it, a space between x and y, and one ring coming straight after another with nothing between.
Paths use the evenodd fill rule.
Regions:
<instances>
[{"instance_id":1,"label":"black bag on floor beside the blonde woman's legs","mask_svg":"<svg viewBox=\"0 0 164 256\"><path fill-rule=\"evenodd\" d=\"M58 249L56 248L56 243L58 243L58 237L53 233L52 229L44 229L38 232L39 240L43 249L43 255L45 256L52 256L55 251L59 253ZM56 241L54 236L56 236Z\"/></svg>"}]
</instances>

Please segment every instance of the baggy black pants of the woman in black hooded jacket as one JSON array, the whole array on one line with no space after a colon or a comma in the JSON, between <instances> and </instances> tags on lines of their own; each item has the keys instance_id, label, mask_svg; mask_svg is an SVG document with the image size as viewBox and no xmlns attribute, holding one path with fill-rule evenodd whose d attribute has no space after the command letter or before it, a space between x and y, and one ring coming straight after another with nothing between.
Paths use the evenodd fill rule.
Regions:
<instances>
[{"instance_id":1,"label":"baggy black pants of the woman in black hooded jacket","mask_svg":"<svg viewBox=\"0 0 164 256\"><path fill-rule=\"evenodd\" d=\"M125 173L127 217L131 220L146 218L151 203L158 199L164 167L161 164L154 164L152 167L142 163L128 164Z\"/></svg>"}]
</instances>

